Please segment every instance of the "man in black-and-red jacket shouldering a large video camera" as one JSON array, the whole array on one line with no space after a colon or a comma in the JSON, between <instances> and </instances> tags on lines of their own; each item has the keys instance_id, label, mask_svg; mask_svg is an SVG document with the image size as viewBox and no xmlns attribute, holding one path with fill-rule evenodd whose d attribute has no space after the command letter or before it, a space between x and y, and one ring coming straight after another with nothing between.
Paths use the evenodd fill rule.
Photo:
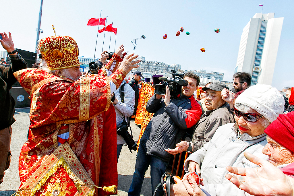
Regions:
<instances>
[{"instance_id":1,"label":"man in black-and-red jacket shouldering a large video camera","mask_svg":"<svg viewBox=\"0 0 294 196\"><path fill-rule=\"evenodd\" d=\"M140 140L133 182L128 195L140 195L145 172L151 167L152 195L161 182L161 175L173 155L166 152L167 148L175 148L186 134L186 129L196 125L202 115L200 105L193 97L199 85L199 77L194 73L184 74L187 86L182 86L182 95L171 99L166 86L165 95L154 95L146 105L149 113L154 113ZM161 193L163 195L163 190Z\"/></svg>"}]
</instances>

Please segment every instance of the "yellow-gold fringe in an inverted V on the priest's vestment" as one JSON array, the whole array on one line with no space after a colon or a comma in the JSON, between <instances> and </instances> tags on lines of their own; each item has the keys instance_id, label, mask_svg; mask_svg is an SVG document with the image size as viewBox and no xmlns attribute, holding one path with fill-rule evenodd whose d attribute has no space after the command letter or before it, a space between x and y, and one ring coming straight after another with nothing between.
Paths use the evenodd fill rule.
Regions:
<instances>
[{"instance_id":1,"label":"yellow-gold fringe in an inverted V on the priest's vestment","mask_svg":"<svg viewBox=\"0 0 294 196\"><path fill-rule=\"evenodd\" d=\"M74 174L74 172L71 171L71 168L68 166L68 163L66 162L66 160L64 159L64 157L61 157L55 164L53 167L51 167L49 169L49 171L45 174L45 176L37 183L37 185L32 189L32 193L31 196L33 196L44 184L45 182L49 179L49 177L51 175L53 175L60 166L63 166L64 169L66 170L67 174L69 175L69 177L71 178L71 180L74 181L76 188L78 190L78 192L81 192L81 183L79 182L79 179L76 177L76 175ZM92 195L89 195L92 196Z\"/></svg>"}]
</instances>

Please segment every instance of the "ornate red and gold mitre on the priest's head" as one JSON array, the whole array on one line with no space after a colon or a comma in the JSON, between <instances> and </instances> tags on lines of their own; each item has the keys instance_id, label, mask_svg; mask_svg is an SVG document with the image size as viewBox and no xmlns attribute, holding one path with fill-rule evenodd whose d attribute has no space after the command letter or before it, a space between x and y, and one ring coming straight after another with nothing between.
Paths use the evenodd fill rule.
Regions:
<instances>
[{"instance_id":1,"label":"ornate red and gold mitre on the priest's head","mask_svg":"<svg viewBox=\"0 0 294 196\"><path fill-rule=\"evenodd\" d=\"M39 50L50 70L78 66L78 45L69 36L46 37L39 41Z\"/></svg>"}]
</instances>

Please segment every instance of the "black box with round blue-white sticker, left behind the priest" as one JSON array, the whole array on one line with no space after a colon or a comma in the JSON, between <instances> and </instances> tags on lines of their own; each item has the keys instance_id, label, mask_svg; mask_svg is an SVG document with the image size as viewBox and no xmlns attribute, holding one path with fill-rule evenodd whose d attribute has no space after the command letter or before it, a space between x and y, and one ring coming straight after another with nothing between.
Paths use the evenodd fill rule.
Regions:
<instances>
[{"instance_id":1,"label":"black box with round blue-white sticker, left behind the priest","mask_svg":"<svg viewBox=\"0 0 294 196\"><path fill-rule=\"evenodd\" d=\"M29 93L24 88L18 86L12 86L10 94L15 100L14 108L29 108L31 106L31 100L29 99Z\"/></svg>"}]
</instances>

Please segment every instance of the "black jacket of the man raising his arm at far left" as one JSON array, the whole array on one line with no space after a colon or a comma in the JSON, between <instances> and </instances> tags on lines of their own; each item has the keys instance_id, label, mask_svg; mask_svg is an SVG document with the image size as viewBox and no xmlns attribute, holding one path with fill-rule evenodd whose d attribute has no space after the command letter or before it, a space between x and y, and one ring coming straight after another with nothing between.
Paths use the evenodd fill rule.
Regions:
<instances>
[{"instance_id":1,"label":"black jacket of the man raising his arm at far left","mask_svg":"<svg viewBox=\"0 0 294 196\"><path fill-rule=\"evenodd\" d=\"M15 100L10 95L9 89L16 82L13 73L27 68L27 63L21 56L11 57L11 66L0 66L0 130L5 129L15 122L14 105Z\"/></svg>"}]
</instances>

